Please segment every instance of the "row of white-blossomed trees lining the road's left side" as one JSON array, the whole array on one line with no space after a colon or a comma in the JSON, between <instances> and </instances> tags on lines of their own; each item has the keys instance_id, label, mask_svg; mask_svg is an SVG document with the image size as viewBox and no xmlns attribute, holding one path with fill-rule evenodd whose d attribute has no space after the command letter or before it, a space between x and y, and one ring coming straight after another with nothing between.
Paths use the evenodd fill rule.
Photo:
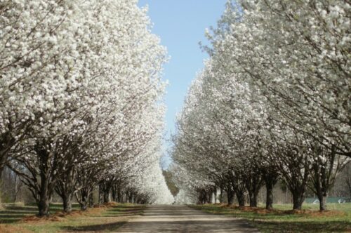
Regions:
<instances>
[{"instance_id":1,"label":"row of white-blossomed trees lining the road's left side","mask_svg":"<svg viewBox=\"0 0 351 233\"><path fill-rule=\"evenodd\" d=\"M0 173L20 176L39 215L53 192L86 209L96 186L105 201L173 200L159 168L166 51L136 0L1 1L0 51Z\"/></svg>"}]
</instances>

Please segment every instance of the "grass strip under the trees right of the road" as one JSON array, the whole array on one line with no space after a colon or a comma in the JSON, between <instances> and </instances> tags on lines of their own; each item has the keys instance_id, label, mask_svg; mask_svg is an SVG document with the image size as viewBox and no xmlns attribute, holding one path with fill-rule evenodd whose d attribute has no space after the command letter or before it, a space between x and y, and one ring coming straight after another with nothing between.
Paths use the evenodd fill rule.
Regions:
<instances>
[{"instance_id":1,"label":"grass strip under the trees right of the road","mask_svg":"<svg viewBox=\"0 0 351 233\"><path fill-rule=\"evenodd\" d=\"M272 211L263 207L239 208L218 204L191 206L215 214L244 218L260 232L351 232L351 204L328 204L329 211L304 204L302 211L291 211L291 205L275 205Z\"/></svg>"}]
</instances>

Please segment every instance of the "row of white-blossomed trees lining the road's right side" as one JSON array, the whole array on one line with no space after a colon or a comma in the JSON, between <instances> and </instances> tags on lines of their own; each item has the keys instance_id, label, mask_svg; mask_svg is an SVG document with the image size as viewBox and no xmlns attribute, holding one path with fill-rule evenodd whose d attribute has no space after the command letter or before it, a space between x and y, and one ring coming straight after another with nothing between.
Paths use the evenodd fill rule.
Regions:
<instances>
[{"instance_id":1,"label":"row of white-blossomed trees lining the road's right side","mask_svg":"<svg viewBox=\"0 0 351 233\"><path fill-rule=\"evenodd\" d=\"M320 209L351 157L347 1L228 1L207 32L205 68L190 87L173 138L176 182L199 203L220 188L257 206L281 179L300 209ZM184 193L183 192L183 193Z\"/></svg>"}]
</instances>

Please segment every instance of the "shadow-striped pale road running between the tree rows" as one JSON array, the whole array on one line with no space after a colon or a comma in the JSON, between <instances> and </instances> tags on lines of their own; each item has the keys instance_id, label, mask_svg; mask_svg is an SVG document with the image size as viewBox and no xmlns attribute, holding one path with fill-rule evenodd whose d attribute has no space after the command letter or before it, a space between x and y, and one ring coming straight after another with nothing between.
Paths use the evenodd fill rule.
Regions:
<instances>
[{"instance_id":1,"label":"shadow-striped pale road running between the tree rows","mask_svg":"<svg viewBox=\"0 0 351 233\"><path fill-rule=\"evenodd\" d=\"M212 215L187 206L150 206L144 214L132 218L118 232L258 232L243 220Z\"/></svg>"}]
</instances>

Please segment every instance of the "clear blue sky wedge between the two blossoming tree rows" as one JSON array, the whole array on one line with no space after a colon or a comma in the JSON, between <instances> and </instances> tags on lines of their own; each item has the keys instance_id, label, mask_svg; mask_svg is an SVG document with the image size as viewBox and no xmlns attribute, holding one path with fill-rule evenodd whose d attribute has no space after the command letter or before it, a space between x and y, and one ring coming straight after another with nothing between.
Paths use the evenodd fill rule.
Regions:
<instances>
[{"instance_id":1,"label":"clear blue sky wedge between the two blossoming tree rows","mask_svg":"<svg viewBox=\"0 0 351 233\"><path fill-rule=\"evenodd\" d=\"M164 66L164 79L169 81L165 97L166 140L175 132L176 114L180 112L192 79L203 66L206 53L199 42L206 44L205 29L216 26L225 9L226 0L139 0L139 6L149 6L154 27L171 60ZM164 164L169 163L168 142L164 142Z\"/></svg>"}]
</instances>

